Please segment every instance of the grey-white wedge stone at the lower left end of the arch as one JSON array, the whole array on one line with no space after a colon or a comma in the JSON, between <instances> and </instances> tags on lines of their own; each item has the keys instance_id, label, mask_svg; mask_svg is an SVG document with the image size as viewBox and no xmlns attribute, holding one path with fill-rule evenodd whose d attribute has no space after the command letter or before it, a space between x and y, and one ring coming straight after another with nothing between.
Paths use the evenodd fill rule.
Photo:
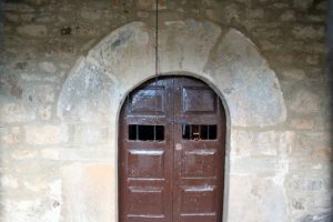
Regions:
<instances>
[{"instance_id":1,"label":"grey-white wedge stone at the lower left end of the arch","mask_svg":"<svg viewBox=\"0 0 333 222\"><path fill-rule=\"evenodd\" d=\"M69 122L109 122L112 104L121 91L102 70L82 63L64 83L58 102L58 115Z\"/></svg>"}]
</instances>

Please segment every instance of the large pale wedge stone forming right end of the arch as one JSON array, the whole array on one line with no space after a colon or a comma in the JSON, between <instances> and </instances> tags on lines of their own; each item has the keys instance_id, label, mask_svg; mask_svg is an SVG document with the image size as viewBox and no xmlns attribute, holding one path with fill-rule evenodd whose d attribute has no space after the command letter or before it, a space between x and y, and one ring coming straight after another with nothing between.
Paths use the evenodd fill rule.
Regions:
<instances>
[{"instance_id":1,"label":"large pale wedge stone forming right end of the arch","mask_svg":"<svg viewBox=\"0 0 333 222\"><path fill-rule=\"evenodd\" d=\"M228 32L205 72L223 93L233 125L263 127L285 120L279 80L255 46L239 31Z\"/></svg>"}]
</instances>

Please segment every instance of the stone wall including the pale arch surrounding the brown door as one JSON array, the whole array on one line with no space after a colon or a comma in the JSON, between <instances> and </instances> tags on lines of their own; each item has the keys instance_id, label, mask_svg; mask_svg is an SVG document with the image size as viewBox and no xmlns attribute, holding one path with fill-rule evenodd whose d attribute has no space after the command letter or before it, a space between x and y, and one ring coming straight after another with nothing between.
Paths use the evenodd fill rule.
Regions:
<instances>
[{"instance_id":1,"label":"stone wall including the pale arch surrounding the brown door","mask_svg":"<svg viewBox=\"0 0 333 222\"><path fill-rule=\"evenodd\" d=\"M118 114L154 77L154 2L0 0L0 221L118 221ZM329 3L159 0L160 74L228 110L224 222L333 220Z\"/></svg>"}]
</instances>

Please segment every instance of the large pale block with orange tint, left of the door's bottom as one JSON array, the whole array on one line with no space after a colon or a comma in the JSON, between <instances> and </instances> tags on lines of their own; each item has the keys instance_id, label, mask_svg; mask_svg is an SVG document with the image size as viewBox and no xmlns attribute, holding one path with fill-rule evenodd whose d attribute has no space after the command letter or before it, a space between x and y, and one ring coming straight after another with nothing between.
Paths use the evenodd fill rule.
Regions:
<instances>
[{"instance_id":1,"label":"large pale block with orange tint, left of the door's bottom","mask_svg":"<svg viewBox=\"0 0 333 222\"><path fill-rule=\"evenodd\" d=\"M115 175L110 164L71 164L62 168L62 221L115 221Z\"/></svg>"}]
</instances>

